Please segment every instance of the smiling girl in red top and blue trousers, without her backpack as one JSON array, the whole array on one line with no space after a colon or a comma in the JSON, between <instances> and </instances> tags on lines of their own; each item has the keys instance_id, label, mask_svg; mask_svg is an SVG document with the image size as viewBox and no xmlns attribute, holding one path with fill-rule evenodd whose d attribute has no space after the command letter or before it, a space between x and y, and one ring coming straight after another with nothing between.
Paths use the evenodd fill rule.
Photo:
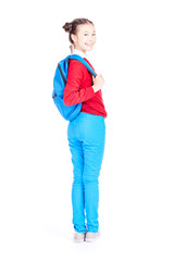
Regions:
<instances>
[{"instance_id":1,"label":"smiling girl in red top and blue trousers, without her backpack","mask_svg":"<svg viewBox=\"0 0 174 261\"><path fill-rule=\"evenodd\" d=\"M65 23L63 28L69 33L72 53L83 57L88 62L87 51L91 51L96 44L92 22L76 18L72 23ZM72 204L76 243L94 241L99 236L98 177L104 151L107 117L101 95L103 84L102 75L91 77L84 64L70 60L64 103L73 105L82 102L80 113L67 127L74 165Z\"/></svg>"}]
</instances>

